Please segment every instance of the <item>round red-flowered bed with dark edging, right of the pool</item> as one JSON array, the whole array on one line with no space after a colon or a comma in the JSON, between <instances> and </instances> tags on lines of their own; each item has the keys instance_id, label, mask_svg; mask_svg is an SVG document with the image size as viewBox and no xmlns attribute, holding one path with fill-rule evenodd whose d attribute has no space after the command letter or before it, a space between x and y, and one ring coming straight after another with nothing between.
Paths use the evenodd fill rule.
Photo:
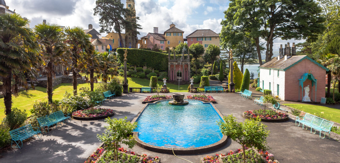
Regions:
<instances>
[{"instance_id":1,"label":"round red-flowered bed with dark edging, right of the pool","mask_svg":"<svg viewBox=\"0 0 340 163\"><path fill-rule=\"evenodd\" d=\"M280 113L271 109L255 109L243 112L243 117L260 118L263 122L285 122L288 114Z\"/></svg>"}]
</instances>

